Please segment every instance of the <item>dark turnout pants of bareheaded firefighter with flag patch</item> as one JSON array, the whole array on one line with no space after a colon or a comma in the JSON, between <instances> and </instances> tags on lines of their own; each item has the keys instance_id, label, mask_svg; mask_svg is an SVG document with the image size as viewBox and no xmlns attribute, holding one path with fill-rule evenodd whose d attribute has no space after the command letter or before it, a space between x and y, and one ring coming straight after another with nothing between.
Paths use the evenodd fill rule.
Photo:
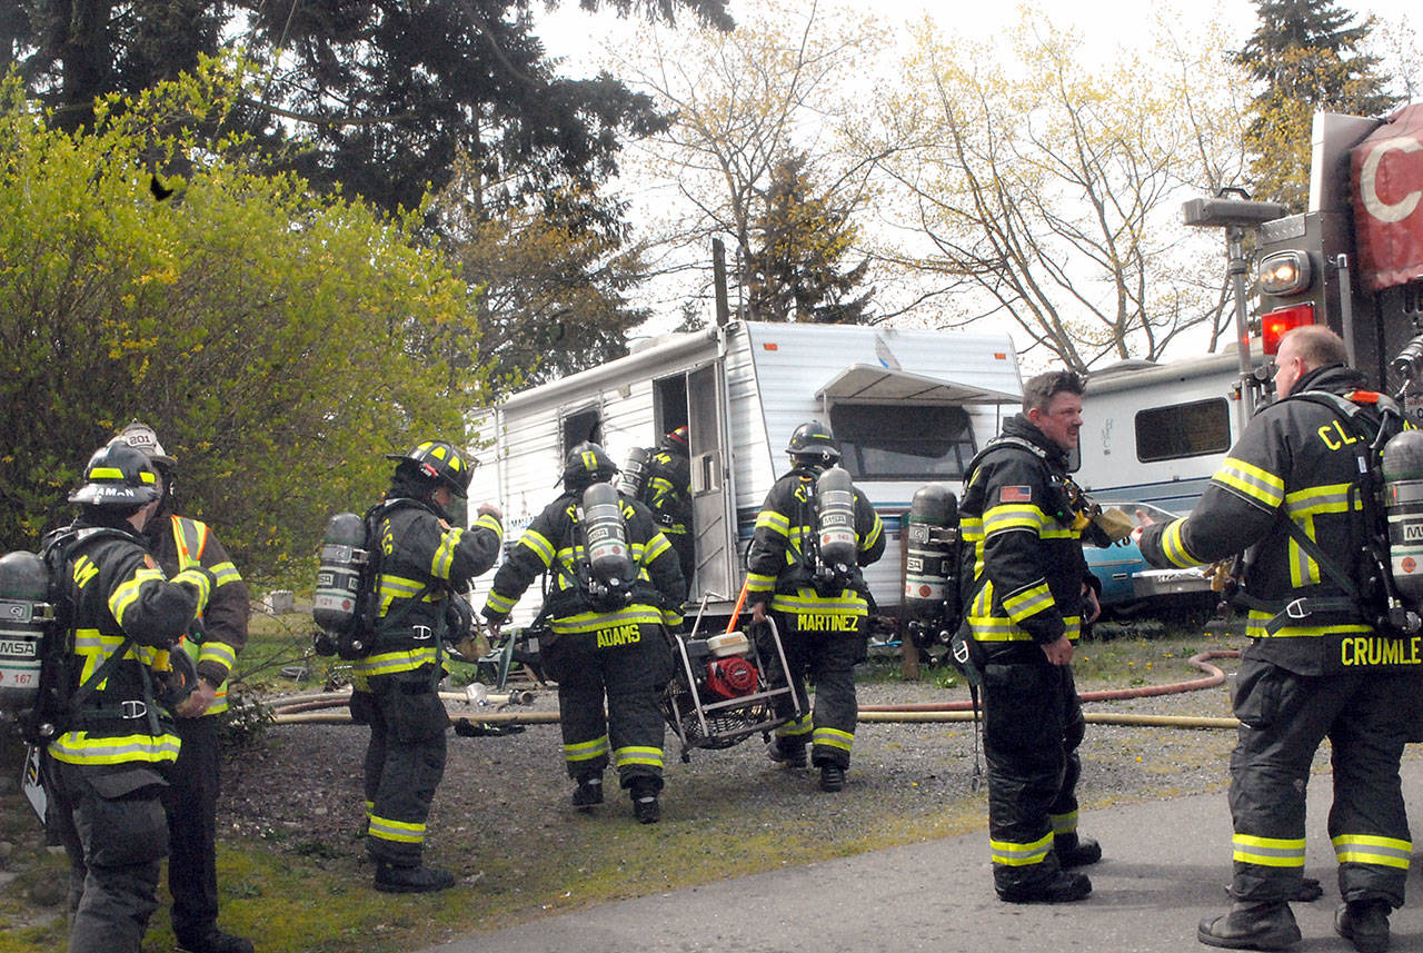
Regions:
<instances>
[{"instance_id":1,"label":"dark turnout pants of bareheaded firefighter with flag patch","mask_svg":"<svg viewBox=\"0 0 1423 953\"><path fill-rule=\"evenodd\" d=\"M983 664L983 754L993 883L1030 886L1060 865L1053 838L1077 831L1086 721L1070 666L1037 646Z\"/></svg>"}]
</instances>

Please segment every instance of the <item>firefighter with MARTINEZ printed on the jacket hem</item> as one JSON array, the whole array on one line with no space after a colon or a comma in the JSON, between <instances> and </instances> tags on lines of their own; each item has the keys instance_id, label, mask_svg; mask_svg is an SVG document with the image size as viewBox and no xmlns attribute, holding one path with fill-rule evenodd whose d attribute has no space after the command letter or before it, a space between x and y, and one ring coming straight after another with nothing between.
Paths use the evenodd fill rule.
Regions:
<instances>
[{"instance_id":1,"label":"firefighter with MARTINEZ printed on the jacket hem","mask_svg":"<svg viewBox=\"0 0 1423 953\"><path fill-rule=\"evenodd\" d=\"M840 459L840 444L818 421L807 421L791 434L785 452L791 469L771 485L756 518L746 555L746 600L753 622L776 620L790 671L774 666L774 678L788 683L800 710L810 711L807 677L815 684L815 708L776 730L767 754L791 768L820 768L821 791L845 787L850 748L855 738L855 663L865 657L865 620L869 616L862 566L885 550L879 515L858 489L854 491L855 565L848 575L817 582L817 478ZM767 657L776 659L774 651ZM777 714L793 714L788 697L777 700Z\"/></svg>"}]
</instances>

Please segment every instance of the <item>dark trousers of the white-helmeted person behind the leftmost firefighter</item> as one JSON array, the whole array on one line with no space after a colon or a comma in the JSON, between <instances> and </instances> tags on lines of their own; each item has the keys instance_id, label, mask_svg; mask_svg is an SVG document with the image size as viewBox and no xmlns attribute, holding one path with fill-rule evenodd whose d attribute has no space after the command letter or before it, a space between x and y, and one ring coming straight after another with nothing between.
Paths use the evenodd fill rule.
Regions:
<instances>
[{"instance_id":1,"label":"dark trousers of the white-helmeted person behind the leftmost firefighter","mask_svg":"<svg viewBox=\"0 0 1423 953\"><path fill-rule=\"evenodd\" d=\"M218 718L176 718L182 750L168 777L168 892L174 936L199 937L218 925L216 825L222 748Z\"/></svg>"}]
</instances>

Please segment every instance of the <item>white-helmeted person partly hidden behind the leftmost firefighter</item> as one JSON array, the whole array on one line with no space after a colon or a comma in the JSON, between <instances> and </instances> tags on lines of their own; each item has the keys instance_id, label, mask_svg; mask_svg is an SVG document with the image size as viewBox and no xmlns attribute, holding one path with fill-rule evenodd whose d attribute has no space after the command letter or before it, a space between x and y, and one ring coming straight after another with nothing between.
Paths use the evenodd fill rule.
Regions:
<instances>
[{"instance_id":1,"label":"white-helmeted person partly hidden behind the leftmost firefighter","mask_svg":"<svg viewBox=\"0 0 1423 953\"><path fill-rule=\"evenodd\" d=\"M158 509L144 538L159 568L171 577L188 566L206 566L215 579L199 624L182 637L198 687L174 713L182 748L164 791L174 939L189 953L252 953L250 940L218 929L216 858L222 765L216 715L228 710L228 673L248 643L248 587L208 525L174 512L178 462L164 452L158 434L135 420L115 440L142 451L158 471Z\"/></svg>"}]
</instances>

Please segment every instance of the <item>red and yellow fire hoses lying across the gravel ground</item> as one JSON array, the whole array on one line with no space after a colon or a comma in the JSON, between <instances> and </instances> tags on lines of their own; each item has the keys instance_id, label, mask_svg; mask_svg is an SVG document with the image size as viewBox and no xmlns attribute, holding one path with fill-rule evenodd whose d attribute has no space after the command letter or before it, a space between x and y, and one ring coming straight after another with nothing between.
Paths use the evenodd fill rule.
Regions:
<instances>
[{"instance_id":1,"label":"red and yellow fire hoses lying across the gravel ground","mask_svg":"<svg viewBox=\"0 0 1423 953\"><path fill-rule=\"evenodd\" d=\"M1137 686L1134 688L1111 688L1106 691L1084 691L1083 701L1126 701L1131 698L1150 698L1155 696L1181 694L1185 691L1200 691L1214 688L1225 681L1225 673L1210 664L1211 659L1238 659L1234 650L1210 650L1191 656L1188 664L1205 673L1204 678L1177 681L1163 686ZM447 703L462 703L472 706L477 711L457 710L451 717L470 717L474 721L490 725L531 725L558 724L556 711L507 711L511 706L528 706L534 701L532 691L511 691L507 694L488 694L484 686L475 683L465 691L441 691L440 698ZM349 691L319 691L277 698L273 706L273 723L276 724L350 724L351 717L344 707L350 703ZM481 711L492 707L494 711ZM342 708L337 711L337 708ZM1161 728L1235 728L1239 721L1235 718L1211 718L1194 715L1158 715L1131 714L1111 711L1089 711L1084 714L1089 724L1116 724L1134 727ZM859 721L865 724L942 724L952 721L972 721L973 706L970 701L939 701L914 704L861 706Z\"/></svg>"}]
</instances>

